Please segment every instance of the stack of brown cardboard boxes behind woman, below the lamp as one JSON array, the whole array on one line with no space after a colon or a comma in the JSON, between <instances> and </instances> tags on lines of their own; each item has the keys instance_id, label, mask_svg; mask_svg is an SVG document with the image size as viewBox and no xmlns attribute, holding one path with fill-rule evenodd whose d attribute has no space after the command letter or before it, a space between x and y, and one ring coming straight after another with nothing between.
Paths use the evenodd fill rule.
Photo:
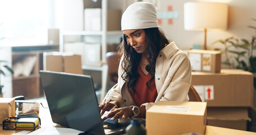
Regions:
<instances>
[{"instance_id":1,"label":"stack of brown cardboard boxes behind woman, below the lamp","mask_svg":"<svg viewBox=\"0 0 256 135\"><path fill-rule=\"evenodd\" d=\"M248 110L253 107L253 74L236 69L219 70L221 52L218 51L190 50L188 56L192 86L202 101L207 102L208 125L246 131L250 122Z\"/></svg>"}]
</instances>

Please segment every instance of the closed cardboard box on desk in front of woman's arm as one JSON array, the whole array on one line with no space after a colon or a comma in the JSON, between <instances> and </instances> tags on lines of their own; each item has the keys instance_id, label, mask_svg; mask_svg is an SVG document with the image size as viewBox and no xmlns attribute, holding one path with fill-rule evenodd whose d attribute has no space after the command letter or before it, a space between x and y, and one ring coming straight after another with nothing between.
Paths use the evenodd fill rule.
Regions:
<instances>
[{"instance_id":1,"label":"closed cardboard box on desk in front of woman's arm","mask_svg":"<svg viewBox=\"0 0 256 135\"><path fill-rule=\"evenodd\" d=\"M204 134L206 102L158 101L146 113L146 130L150 134Z\"/></svg>"}]
</instances>

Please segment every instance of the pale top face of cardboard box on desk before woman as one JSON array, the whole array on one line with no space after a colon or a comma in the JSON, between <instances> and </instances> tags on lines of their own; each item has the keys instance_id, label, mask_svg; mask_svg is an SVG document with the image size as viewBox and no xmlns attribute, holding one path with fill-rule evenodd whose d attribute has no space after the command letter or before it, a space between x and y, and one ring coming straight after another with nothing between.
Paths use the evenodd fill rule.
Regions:
<instances>
[{"instance_id":1,"label":"pale top face of cardboard box on desk before woman","mask_svg":"<svg viewBox=\"0 0 256 135\"><path fill-rule=\"evenodd\" d=\"M182 115L204 115L206 102L158 101L147 112Z\"/></svg>"}]
</instances>

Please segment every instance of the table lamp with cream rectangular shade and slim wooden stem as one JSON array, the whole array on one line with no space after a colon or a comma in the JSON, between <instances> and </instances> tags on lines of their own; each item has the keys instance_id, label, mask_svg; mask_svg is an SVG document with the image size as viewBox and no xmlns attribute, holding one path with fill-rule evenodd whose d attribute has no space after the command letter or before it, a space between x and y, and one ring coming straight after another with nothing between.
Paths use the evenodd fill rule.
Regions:
<instances>
[{"instance_id":1,"label":"table lamp with cream rectangular shade and slim wooden stem","mask_svg":"<svg viewBox=\"0 0 256 135\"><path fill-rule=\"evenodd\" d=\"M204 50L206 50L206 31L227 29L227 11L227 3L186 2L184 28L204 30Z\"/></svg>"}]
</instances>

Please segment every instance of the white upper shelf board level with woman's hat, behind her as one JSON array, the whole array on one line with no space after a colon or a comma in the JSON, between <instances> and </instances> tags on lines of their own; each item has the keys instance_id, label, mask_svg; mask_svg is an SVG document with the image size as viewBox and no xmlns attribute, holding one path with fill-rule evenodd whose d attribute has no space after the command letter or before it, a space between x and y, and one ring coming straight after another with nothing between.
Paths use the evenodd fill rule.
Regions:
<instances>
[{"instance_id":1,"label":"white upper shelf board level with woman's hat, behind her","mask_svg":"<svg viewBox=\"0 0 256 135\"><path fill-rule=\"evenodd\" d=\"M103 35L104 31L63 31L62 35ZM106 31L107 35L123 34L121 30Z\"/></svg>"}]
</instances>

